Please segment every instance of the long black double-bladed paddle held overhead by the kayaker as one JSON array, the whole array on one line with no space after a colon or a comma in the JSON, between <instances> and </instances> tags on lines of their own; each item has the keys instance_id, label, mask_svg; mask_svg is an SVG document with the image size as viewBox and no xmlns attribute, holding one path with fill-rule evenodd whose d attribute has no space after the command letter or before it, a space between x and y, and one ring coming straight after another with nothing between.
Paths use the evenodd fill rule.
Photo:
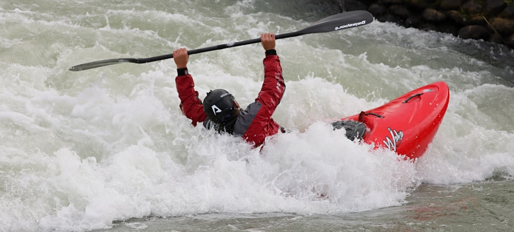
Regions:
<instances>
[{"instance_id":1,"label":"long black double-bladed paddle held overhead by the kayaker","mask_svg":"<svg viewBox=\"0 0 514 232\"><path fill-rule=\"evenodd\" d=\"M349 11L349 12L335 14L335 15L323 18L323 19L319 20L318 22L314 23L313 25L310 25L309 27L304 28L300 31L275 35L275 38L281 39L281 38L289 38L289 37L305 35L305 34L337 31L337 30L342 30L342 29L347 29L347 28L358 27L358 26L370 24L371 22L373 22L373 15L371 15L370 12L364 11L364 10ZM188 51L188 54L192 55L192 54L214 51L214 50L225 49L225 48L231 48L231 47L237 47L237 46L242 46L242 45L256 44L256 43L260 43L260 42L261 42L261 38L256 38L256 39L250 39L250 40L245 40L245 41L238 41L235 43L228 43L228 44L217 45L217 46L212 46L212 47L207 47L207 48L199 48L199 49L195 49L195 50L190 50L190 51ZM86 70L86 69L93 69L93 68L98 68L98 67L108 66L108 65L116 65L116 64L125 63L125 62L143 64L143 63L148 63L148 62L153 62L153 61L163 60L163 59L169 59L169 58L173 58L173 53L167 54L167 55L149 57L149 58L104 59L104 60L89 62L89 63L82 64L82 65L73 66L73 67L69 68L69 70L70 71L82 71L82 70Z\"/></svg>"}]
</instances>

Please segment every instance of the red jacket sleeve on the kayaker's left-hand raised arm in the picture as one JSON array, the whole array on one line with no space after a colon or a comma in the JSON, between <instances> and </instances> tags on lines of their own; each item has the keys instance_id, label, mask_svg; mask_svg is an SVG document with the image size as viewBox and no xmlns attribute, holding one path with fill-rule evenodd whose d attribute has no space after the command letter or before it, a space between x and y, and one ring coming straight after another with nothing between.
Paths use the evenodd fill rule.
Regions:
<instances>
[{"instance_id":1,"label":"red jacket sleeve on the kayaker's left-hand raised arm in the picture","mask_svg":"<svg viewBox=\"0 0 514 232\"><path fill-rule=\"evenodd\" d=\"M180 110L189 119L191 124L205 121L207 115L204 106L198 98L198 92L194 89L193 77L190 74L175 77L178 97L180 98Z\"/></svg>"}]
</instances>

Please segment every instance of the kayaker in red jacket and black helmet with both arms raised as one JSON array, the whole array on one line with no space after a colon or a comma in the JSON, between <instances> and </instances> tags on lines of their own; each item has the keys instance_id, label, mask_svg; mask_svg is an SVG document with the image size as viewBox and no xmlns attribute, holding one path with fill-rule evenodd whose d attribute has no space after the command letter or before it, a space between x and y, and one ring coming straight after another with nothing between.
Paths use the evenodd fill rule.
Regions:
<instances>
[{"instance_id":1,"label":"kayaker in red jacket and black helmet with both arms raised","mask_svg":"<svg viewBox=\"0 0 514 232\"><path fill-rule=\"evenodd\" d=\"M220 133L241 136L255 147L262 145L267 136L284 132L284 128L271 118L286 88L280 59L275 50L275 35L262 34L261 44L266 53L263 61L264 83L255 102L244 110L239 107L232 94L222 89L207 93L202 104L194 89L193 77L188 73L187 49L181 48L173 52L178 73L175 82L181 101L180 109L192 120L194 126L203 122L207 129L214 128Z\"/></svg>"}]
</instances>

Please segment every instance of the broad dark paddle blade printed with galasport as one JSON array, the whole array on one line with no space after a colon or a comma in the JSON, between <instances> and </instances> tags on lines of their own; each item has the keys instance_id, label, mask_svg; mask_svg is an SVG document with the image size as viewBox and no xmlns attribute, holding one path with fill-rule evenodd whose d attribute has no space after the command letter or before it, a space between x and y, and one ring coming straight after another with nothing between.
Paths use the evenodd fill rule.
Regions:
<instances>
[{"instance_id":1,"label":"broad dark paddle blade printed with galasport","mask_svg":"<svg viewBox=\"0 0 514 232\"><path fill-rule=\"evenodd\" d=\"M373 22L373 15L368 11L348 11L323 18L298 32L303 34L330 32L371 24L371 22Z\"/></svg>"}]
</instances>

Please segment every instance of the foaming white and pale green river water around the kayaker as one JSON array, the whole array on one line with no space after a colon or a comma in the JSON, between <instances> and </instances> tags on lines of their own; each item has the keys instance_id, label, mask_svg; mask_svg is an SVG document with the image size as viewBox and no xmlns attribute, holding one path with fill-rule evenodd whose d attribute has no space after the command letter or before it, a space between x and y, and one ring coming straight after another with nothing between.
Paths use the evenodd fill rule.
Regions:
<instances>
[{"instance_id":1,"label":"foaming white and pale green river water around the kayaker","mask_svg":"<svg viewBox=\"0 0 514 232\"><path fill-rule=\"evenodd\" d=\"M314 2L314 1L313 1ZM0 231L514 231L514 52L390 23L277 40L291 133L262 151L193 128L173 60L337 13L297 1L0 2ZM195 54L210 89L253 101L259 44ZM417 162L326 123L443 80L450 103Z\"/></svg>"}]
</instances>

